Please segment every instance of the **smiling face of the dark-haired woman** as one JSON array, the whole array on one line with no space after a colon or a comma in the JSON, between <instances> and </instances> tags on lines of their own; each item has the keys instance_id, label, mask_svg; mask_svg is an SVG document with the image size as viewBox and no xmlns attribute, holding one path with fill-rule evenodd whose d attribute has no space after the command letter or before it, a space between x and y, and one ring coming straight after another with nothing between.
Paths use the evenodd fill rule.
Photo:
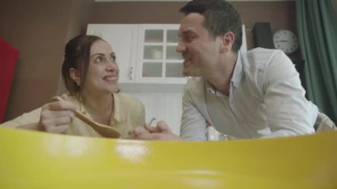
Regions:
<instances>
[{"instance_id":1,"label":"smiling face of the dark-haired woman","mask_svg":"<svg viewBox=\"0 0 337 189\"><path fill-rule=\"evenodd\" d=\"M118 91L119 72L116 55L111 46L102 40L92 43L84 91L106 93Z\"/></svg>"}]
</instances>

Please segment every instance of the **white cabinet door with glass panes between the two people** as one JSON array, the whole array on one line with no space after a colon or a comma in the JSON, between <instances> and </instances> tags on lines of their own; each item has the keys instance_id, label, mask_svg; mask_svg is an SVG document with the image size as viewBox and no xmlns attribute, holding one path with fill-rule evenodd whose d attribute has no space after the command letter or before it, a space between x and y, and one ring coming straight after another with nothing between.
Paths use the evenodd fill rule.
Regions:
<instances>
[{"instance_id":1,"label":"white cabinet door with glass panes between the two people","mask_svg":"<svg viewBox=\"0 0 337 189\"><path fill-rule=\"evenodd\" d=\"M183 59L176 52L178 24L140 24L138 28L137 82L187 82Z\"/></svg>"}]
</instances>

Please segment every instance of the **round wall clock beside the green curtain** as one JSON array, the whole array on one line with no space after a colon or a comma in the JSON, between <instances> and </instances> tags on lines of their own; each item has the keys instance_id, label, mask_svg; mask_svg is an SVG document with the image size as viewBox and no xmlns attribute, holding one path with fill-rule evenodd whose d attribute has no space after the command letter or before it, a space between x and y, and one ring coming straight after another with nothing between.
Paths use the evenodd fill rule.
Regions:
<instances>
[{"instance_id":1,"label":"round wall clock beside the green curtain","mask_svg":"<svg viewBox=\"0 0 337 189\"><path fill-rule=\"evenodd\" d=\"M280 29L272 37L275 48L284 51L285 53L292 53L299 47L298 38L293 32Z\"/></svg>"}]
</instances>

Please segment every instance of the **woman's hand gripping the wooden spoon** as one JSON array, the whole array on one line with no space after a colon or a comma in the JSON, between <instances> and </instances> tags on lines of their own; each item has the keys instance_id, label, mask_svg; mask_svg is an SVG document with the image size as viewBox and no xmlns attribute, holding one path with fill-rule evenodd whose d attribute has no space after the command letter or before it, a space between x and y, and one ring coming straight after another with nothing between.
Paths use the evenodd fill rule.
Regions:
<instances>
[{"instance_id":1,"label":"woman's hand gripping the wooden spoon","mask_svg":"<svg viewBox=\"0 0 337 189\"><path fill-rule=\"evenodd\" d=\"M39 127L41 130L52 133L64 133L69 123L74 120L74 103L67 101L67 96L62 95L65 100L51 101L42 107Z\"/></svg>"}]
</instances>

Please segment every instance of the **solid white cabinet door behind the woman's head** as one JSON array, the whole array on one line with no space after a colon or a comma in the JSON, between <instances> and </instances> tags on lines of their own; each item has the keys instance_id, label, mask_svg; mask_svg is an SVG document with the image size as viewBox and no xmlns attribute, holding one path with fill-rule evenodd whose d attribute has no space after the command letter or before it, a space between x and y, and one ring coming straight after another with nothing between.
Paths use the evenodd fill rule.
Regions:
<instances>
[{"instance_id":1,"label":"solid white cabinet door behind the woman's head","mask_svg":"<svg viewBox=\"0 0 337 189\"><path fill-rule=\"evenodd\" d=\"M137 69L137 24L89 24L88 35L98 35L116 53L120 83L135 83Z\"/></svg>"}]
</instances>

